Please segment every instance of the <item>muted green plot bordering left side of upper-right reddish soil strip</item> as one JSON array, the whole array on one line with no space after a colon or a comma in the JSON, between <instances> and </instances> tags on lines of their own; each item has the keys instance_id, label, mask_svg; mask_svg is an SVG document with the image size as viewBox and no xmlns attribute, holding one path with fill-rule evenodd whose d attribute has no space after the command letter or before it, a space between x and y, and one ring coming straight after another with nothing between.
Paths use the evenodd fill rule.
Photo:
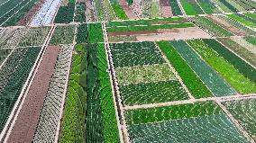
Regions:
<instances>
[{"instance_id":1,"label":"muted green plot bordering left side of upper-right reddish soil strip","mask_svg":"<svg viewBox=\"0 0 256 143\"><path fill-rule=\"evenodd\" d=\"M194 22L198 27L204 29L212 36L224 37L224 36L233 36L230 31L224 30L222 27L217 25L215 22L208 20L206 17L197 16L189 18L191 22Z\"/></svg>"}]
</instances>

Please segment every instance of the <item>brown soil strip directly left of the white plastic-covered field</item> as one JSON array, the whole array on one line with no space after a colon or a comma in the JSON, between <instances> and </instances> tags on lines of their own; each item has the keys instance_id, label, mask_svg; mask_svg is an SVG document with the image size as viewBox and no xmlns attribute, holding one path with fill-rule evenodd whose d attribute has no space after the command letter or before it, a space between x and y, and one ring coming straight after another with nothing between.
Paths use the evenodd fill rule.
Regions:
<instances>
[{"instance_id":1,"label":"brown soil strip directly left of the white plastic-covered field","mask_svg":"<svg viewBox=\"0 0 256 143\"><path fill-rule=\"evenodd\" d=\"M17 24L18 25L27 25L29 22L31 22L34 14L40 10L41 5L44 4L45 1L46 0L39 0L38 2L36 2L32 6L32 9L28 13L26 13L24 15L24 17Z\"/></svg>"}]
</instances>

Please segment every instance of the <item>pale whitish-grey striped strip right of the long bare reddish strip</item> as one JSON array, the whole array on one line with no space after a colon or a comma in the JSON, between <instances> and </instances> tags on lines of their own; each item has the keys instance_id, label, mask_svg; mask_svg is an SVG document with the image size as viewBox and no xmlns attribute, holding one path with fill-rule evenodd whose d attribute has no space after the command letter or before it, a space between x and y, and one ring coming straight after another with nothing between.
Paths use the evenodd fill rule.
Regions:
<instances>
[{"instance_id":1,"label":"pale whitish-grey striped strip right of the long bare reddish strip","mask_svg":"<svg viewBox=\"0 0 256 143\"><path fill-rule=\"evenodd\" d=\"M66 89L71 57L72 46L61 45L33 142L54 142L56 132L59 131L57 130L59 112L61 104L64 102L64 90Z\"/></svg>"}]
</instances>

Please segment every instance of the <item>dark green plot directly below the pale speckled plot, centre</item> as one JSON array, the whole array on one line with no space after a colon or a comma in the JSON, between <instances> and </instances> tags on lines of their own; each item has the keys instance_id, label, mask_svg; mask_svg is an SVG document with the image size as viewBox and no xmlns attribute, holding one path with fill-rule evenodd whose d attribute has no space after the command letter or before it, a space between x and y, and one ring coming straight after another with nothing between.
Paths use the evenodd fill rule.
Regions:
<instances>
[{"instance_id":1,"label":"dark green plot directly below the pale speckled plot, centre","mask_svg":"<svg viewBox=\"0 0 256 143\"><path fill-rule=\"evenodd\" d=\"M130 84L119 88L125 105L165 103L187 99L178 80Z\"/></svg>"}]
</instances>

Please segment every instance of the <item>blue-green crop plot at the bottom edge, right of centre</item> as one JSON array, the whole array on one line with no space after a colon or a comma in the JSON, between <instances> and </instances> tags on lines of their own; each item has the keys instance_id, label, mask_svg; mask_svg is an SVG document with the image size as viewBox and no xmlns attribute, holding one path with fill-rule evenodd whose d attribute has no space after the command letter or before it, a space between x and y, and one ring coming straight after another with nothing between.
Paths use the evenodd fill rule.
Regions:
<instances>
[{"instance_id":1,"label":"blue-green crop plot at the bottom edge, right of centre","mask_svg":"<svg viewBox=\"0 0 256 143\"><path fill-rule=\"evenodd\" d=\"M248 142L223 114L131 125L129 130L133 143Z\"/></svg>"}]
</instances>

